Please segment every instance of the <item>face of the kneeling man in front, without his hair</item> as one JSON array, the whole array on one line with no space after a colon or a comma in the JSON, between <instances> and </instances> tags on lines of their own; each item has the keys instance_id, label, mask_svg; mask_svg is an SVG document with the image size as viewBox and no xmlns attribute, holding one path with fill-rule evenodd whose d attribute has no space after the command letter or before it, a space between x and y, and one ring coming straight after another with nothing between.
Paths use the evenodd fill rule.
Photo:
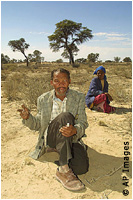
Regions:
<instances>
[{"instance_id":1,"label":"face of the kneeling man in front, without his hair","mask_svg":"<svg viewBox=\"0 0 133 200\"><path fill-rule=\"evenodd\" d=\"M65 96L71 80L68 79L67 74L55 72L51 85L54 87L56 96Z\"/></svg>"}]
</instances>

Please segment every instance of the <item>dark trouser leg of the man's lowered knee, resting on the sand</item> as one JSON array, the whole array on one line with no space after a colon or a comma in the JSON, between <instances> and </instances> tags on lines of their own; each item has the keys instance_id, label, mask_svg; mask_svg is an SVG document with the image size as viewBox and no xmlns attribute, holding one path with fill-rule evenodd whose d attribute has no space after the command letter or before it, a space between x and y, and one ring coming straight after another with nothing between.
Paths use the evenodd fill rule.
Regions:
<instances>
[{"instance_id":1,"label":"dark trouser leg of the man's lowered knee, resting on the sand","mask_svg":"<svg viewBox=\"0 0 133 200\"><path fill-rule=\"evenodd\" d=\"M72 144L72 159L69 161L69 167L77 175L85 174L89 168L89 158L86 149L79 144Z\"/></svg>"}]
</instances>

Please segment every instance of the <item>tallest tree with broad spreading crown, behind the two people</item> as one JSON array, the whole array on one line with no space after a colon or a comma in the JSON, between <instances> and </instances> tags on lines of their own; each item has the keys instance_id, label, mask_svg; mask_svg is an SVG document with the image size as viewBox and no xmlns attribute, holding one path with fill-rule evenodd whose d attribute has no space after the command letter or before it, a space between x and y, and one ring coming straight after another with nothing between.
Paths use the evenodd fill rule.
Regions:
<instances>
[{"instance_id":1,"label":"tallest tree with broad spreading crown, behind the two people","mask_svg":"<svg viewBox=\"0 0 133 200\"><path fill-rule=\"evenodd\" d=\"M87 27L82 27L81 23L76 23L71 20L63 20L56 24L55 32L48 36L50 48L53 52L64 48L64 52L69 55L69 62L74 63L74 51L79 51L77 45L91 39L92 31Z\"/></svg>"}]
</instances>

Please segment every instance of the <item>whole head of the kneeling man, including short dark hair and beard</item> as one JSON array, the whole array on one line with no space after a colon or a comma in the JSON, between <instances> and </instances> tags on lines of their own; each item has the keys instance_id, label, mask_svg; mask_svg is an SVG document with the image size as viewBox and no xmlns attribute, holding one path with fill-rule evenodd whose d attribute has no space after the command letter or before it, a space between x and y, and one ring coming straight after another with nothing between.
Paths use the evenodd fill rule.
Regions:
<instances>
[{"instance_id":1,"label":"whole head of the kneeling man, including short dark hair and beard","mask_svg":"<svg viewBox=\"0 0 133 200\"><path fill-rule=\"evenodd\" d=\"M70 72L63 68L53 70L51 72L50 83L54 87L58 98L65 97L69 84L71 83Z\"/></svg>"}]
</instances>

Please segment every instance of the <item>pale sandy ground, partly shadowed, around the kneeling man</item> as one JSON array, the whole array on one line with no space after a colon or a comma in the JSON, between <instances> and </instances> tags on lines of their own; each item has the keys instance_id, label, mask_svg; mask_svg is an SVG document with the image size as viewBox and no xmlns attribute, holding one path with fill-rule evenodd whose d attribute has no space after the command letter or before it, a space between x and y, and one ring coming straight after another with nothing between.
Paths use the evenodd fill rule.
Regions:
<instances>
[{"instance_id":1,"label":"pale sandy ground, partly shadowed, around the kneeling man","mask_svg":"<svg viewBox=\"0 0 133 200\"><path fill-rule=\"evenodd\" d=\"M34 149L38 133L24 127L17 113L22 102L1 102L1 198L2 199L131 199L131 105L117 105L114 114L86 108L89 127L84 142L88 145L89 172L80 175L86 188L71 192L55 179L58 159L47 153L40 161L28 155ZM35 114L35 110L32 113ZM124 142L129 143L125 147ZM128 145L126 145L128 146ZM128 149L128 150L127 150ZM124 168L124 151L130 152L129 167ZM129 170L123 173L122 170ZM123 181L123 176L127 181ZM124 182L128 186L123 185ZM123 190L129 191L127 196Z\"/></svg>"}]
</instances>

